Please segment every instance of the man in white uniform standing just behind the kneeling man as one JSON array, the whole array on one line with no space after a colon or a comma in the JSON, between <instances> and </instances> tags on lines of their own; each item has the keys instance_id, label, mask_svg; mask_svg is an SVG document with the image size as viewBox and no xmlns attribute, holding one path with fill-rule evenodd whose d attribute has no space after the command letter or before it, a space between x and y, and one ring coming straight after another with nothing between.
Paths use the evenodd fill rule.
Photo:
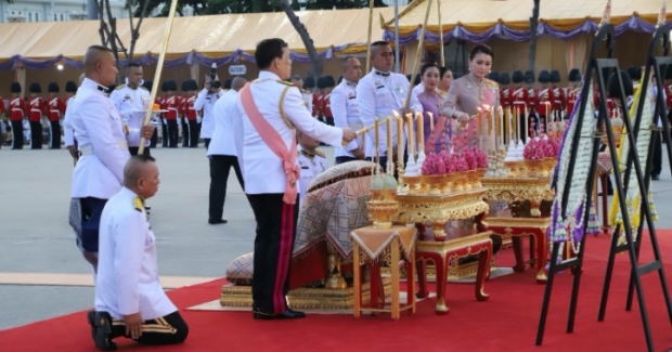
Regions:
<instances>
[{"instance_id":1,"label":"man in white uniform standing just behind the kneeling man","mask_svg":"<svg viewBox=\"0 0 672 352\"><path fill-rule=\"evenodd\" d=\"M77 245L95 271L99 222L107 199L124 181L124 165L130 157L121 116L108 99L108 87L117 76L116 60L105 47L93 45L85 54L85 80L72 106L74 138L81 153L73 171L69 223ZM141 134L152 136L145 126Z\"/></svg>"}]
</instances>

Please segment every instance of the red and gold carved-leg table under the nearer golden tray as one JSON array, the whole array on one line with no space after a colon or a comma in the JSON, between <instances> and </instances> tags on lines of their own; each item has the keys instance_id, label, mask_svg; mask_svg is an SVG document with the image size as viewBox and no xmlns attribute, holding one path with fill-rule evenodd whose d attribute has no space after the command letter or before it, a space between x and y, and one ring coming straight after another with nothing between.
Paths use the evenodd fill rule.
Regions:
<instances>
[{"instance_id":1,"label":"red and gold carved-leg table under the nearer golden tray","mask_svg":"<svg viewBox=\"0 0 672 352\"><path fill-rule=\"evenodd\" d=\"M487 301L489 296L483 291L486 281L490 277L490 259L492 258L492 232L477 232L469 229L450 227L445 240L437 242L424 237L417 242L417 279L419 283L418 298L427 297L426 262L432 261L437 271L437 314L447 314L445 284L450 263L461 258L478 255L478 273L476 275L476 299ZM411 272L412 273L412 272ZM412 277L412 275L409 275Z\"/></svg>"}]
</instances>

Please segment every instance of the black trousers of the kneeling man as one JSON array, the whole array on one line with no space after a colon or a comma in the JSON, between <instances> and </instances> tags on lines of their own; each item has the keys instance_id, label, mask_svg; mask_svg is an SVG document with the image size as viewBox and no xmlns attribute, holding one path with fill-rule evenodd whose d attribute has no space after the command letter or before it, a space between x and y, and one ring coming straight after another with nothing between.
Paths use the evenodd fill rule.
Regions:
<instances>
[{"instance_id":1,"label":"black trousers of the kneeling man","mask_svg":"<svg viewBox=\"0 0 672 352\"><path fill-rule=\"evenodd\" d=\"M142 322L142 335L137 340L143 344L175 344L182 343L189 335L189 326L179 312L170 313L164 317ZM126 335L126 323L112 320L112 333L109 338L131 338Z\"/></svg>"}]
</instances>

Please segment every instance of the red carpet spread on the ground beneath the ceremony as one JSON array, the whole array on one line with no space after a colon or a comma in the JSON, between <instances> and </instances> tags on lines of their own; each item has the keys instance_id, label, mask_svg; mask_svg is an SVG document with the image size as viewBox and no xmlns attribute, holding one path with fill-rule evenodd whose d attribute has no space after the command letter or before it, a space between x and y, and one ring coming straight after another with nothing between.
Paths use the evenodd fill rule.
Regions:
<instances>
[{"instance_id":1,"label":"red carpet spread on the ground beneath the ceremony","mask_svg":"<svg viewBox=\"0 0 672 352\"><path fill-rule=\"evenodd\" d=\"M659 231L667 273L672 273L672 231ZM612 281L607 320L597 322L597 310L610 238L587 239L584 275L574 334L565 334L572 276L556 279L544 346L534 338L544 285L534 283L534 272L513 274L486 286L488 302L477 302L471 285L449 284L449 315L434 314L434 300L418 304L417 313L402 313L398 322L389 315L310 315L294 322L258 322L250 313L182 311L190 325L184 344L156 348L160 351L646 351L638 308L624 311L628 258L619 256ZM643 259L650 259L648 240ZM667 258L665 258L667 255ZM505 250L499 264L511 264ZM657 275L644 279L649 320L657 351L672 349L672 328ZM668 281L670 278L668 277ZM180 309L215 300L223 279L169 292ZM635 300L636 302L636 300ZM27 308L29 309L29 308ZM145 347L124 339L119 350ZM154 349L152 349L154 350ZM85 312L0 331L0 351L95 351Z\"/></svg>"}]
</instances>

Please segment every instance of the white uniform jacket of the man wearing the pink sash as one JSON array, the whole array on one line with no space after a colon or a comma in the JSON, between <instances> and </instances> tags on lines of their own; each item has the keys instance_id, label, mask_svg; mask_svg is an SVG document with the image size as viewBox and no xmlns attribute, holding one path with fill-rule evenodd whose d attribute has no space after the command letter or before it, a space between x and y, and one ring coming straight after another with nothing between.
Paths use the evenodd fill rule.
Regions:
<instances>
[{"instance_id":1,"label":"white uniform jacket of the man wearing the pink sash","mask_svg":"<svg viewBox=\"0 0 672 352\"><path fill-rule=\"evenodd\" d=\"M310 116L302 104L301 93L296 87L287 89L284 101L280 97L287 84L282 82L277 75L262 70L259 79L250 83L251 96L257 108L277 131L287 151L292 149L294 129L290 129L285 119L280 114L282 104L285 117L297 129L307 135L331 145L338 145L343 141L343 130L320 122ZM236 100L238 114L234 118L234 138L236 142L236 153L243 179L245 180L245 192L247 194L284 193L287 175L282 166L281 159L273 154L269 146L263 142L249 117L243 109L240 95ZM299 190L300 192L300 185Z\"/></svg>"}]
</instances>

